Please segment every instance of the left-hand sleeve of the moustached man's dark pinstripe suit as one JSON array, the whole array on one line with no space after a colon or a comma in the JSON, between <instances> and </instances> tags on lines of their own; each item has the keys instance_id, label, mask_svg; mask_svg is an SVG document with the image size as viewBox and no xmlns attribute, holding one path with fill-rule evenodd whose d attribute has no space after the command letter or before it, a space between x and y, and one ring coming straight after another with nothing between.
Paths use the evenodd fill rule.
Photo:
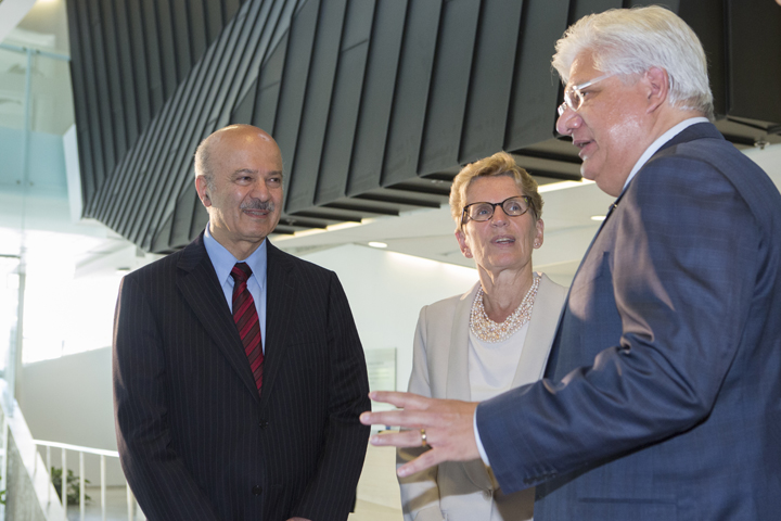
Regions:
<instances>
[{"instance_id":1,"label":"left-hand sleeve of the moustached man's dark pinstripe suit","mask_svg":"<svg viewBox=\"0 0 781 521\"><path fill-rule=\"evenodd\" d=\"M119 288L113 350L119 459L141 509L151 520L217 521L170 448L162 340L146 295L129 277Z\"/></svg>"}]
</instances>

